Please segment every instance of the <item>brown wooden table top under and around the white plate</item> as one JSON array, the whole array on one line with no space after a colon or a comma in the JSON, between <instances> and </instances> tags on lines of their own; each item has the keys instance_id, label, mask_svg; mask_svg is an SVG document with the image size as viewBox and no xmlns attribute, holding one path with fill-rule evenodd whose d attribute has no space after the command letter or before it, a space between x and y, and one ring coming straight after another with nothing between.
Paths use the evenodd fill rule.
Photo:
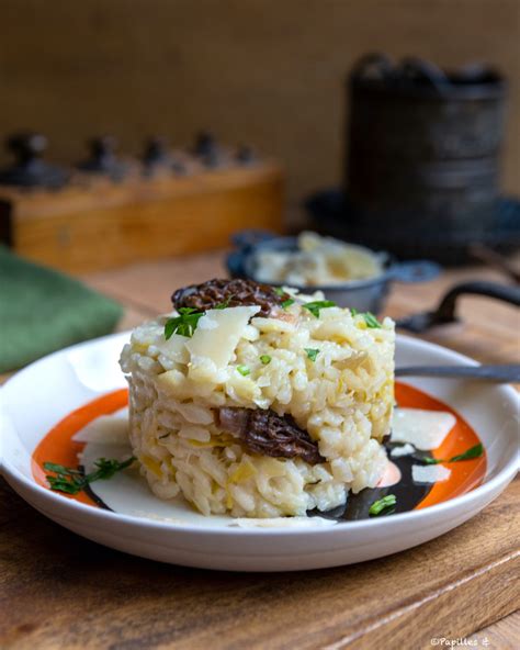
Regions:
<instances>
[{"instance_id":1,"label":"brown wooden table top under and around the white plate","mask_svg":"<svg viewBox=\"0 0 520 650\"><path fill-rule=\"evenodd\" d=\"M126 305L121 328L169 307L172 289L223 273L222 255L91 274ZM397 287L387 313L436 304L464 269ZM486 362L519 362L519 315L467 298L463 325L426 338ZM477 517L420 547L351 567L234 574L159 564L58 527L0 482L0 648L415 649L432 638L520 647L520 480ZM479 630L479 631L478 631ZM488 643L486 643L486 639ZM443 647L443 646L441 646Z\"/></svg>"}]
</instances>

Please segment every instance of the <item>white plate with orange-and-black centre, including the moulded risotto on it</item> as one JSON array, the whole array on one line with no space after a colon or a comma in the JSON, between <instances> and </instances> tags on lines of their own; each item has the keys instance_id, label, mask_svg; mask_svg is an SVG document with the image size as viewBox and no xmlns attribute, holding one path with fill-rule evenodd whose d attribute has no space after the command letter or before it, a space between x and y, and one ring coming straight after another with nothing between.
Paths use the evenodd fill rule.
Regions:
<instances>
[{"instance_id":1,"label":"white plate with orange-and-black centre, including the moulded risotto on it","mask_svg":"<svg viewBox=\"0 0 520 650\"><path fill-rule=\"evenodd\" d=\"M467 359L389 318L244 280L172 301L1 391L2 472L64 526L189 565L327 567L431 539L513 475L515 393L394 382L394 354Z\"/></svg>"}]
</instances>

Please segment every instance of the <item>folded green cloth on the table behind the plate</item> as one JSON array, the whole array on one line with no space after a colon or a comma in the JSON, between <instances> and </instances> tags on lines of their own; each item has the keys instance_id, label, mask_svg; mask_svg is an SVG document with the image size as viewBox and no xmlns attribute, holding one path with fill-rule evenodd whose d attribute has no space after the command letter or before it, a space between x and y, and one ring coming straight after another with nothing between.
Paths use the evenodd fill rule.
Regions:
<instances>
[{"instance_id":1,"label":"folded green cloth on the table behind the plate","mask_svg":"<svg viewBox=\"0 0 520 650\"><path fill-rule=\"evenodd\" d=\"M0 246L0 372L113 332L123 307Z\"/></svg>"}]
</instances>

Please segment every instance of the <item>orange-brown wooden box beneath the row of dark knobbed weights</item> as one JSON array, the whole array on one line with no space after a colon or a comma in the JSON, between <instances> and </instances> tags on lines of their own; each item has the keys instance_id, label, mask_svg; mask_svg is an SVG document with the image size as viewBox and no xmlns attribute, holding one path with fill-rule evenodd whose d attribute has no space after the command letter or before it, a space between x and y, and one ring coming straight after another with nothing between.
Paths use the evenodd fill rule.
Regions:
<instances>
[{"instance_id":1,"label":"orange-brown wooden box beneath the row of dark knobbed weights","mask_svg":"<svg viewBox=\"0 0 520 650\"><path fill-rule=\"evenodd\" d=\"M245 227L280 231L284 179L269 160L59 190L0 188L0 242L70 272L226 246Z\"/></svg>"}]
</instances>

